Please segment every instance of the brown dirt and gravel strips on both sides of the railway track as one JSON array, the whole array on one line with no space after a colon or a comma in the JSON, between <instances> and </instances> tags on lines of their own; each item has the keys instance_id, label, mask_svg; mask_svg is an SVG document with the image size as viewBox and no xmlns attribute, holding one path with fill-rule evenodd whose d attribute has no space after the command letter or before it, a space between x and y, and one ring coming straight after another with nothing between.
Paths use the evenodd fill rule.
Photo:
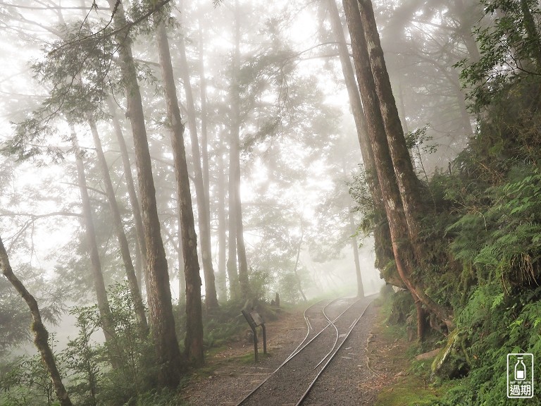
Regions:
<instances>
[{"instance_id":1,"label":"brown dirt and gravel strips on both sides of the railway track","mask_svg":"<svg viewBox=\"0 0 541 406\"><path fill-rule=\"evenodd\" d=\"M387 368L386 362L375 363L373 359L376 355L385 357L383 352L376 353L374 350L379 345L378 336L371 333L377 314L377 307L368 307L363 319L303 405L354 406L375 403L378 390L394 376L394 371ZM266 379L290 355L306 335L301 311L287 314L266 326L270 356L261 357L259 364L242 362L239 357L253 355L253 345L244 342L233 343L227 350L209 357L208 368L195 374L185 390L185 399L190 406L237 405L251 388ZM372 355L367 359L370 352Z\"/></svg>"}]
</instances>

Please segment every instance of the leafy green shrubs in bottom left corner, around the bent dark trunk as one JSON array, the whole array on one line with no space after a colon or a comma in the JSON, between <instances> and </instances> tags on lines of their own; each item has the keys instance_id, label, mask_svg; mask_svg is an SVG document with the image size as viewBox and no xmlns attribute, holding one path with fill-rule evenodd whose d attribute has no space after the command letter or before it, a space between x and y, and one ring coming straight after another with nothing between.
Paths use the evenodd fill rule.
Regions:
<instances>
[{"instance_id":1,"label":"leafy green shrubs in bottom left corner, around the bent dark trunk","mask_svg":"<svg viewBox=\"0 0 541 406\"><path fill-rule=\"evenodd\" d=\"M64 384L77 405L132 405L154 386L154 349L150 337L137 325L127 283L113 285L108 297L114 326L111 342L97 342L101 335L97 305L74 307L70 314L77 319L77 336L55 354ZM41 357L21 357L2 369L2 405L54 405L54 390Z\"/></svg>"}]
</instances>

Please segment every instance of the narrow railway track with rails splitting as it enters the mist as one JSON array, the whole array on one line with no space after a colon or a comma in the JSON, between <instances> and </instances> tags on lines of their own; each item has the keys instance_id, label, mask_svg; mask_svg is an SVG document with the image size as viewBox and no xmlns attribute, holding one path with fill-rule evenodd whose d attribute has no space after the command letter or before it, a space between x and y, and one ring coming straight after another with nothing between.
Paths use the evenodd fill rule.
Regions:
<instances>
[{"instance_id":1,"label":"narrow railway track with rails splitting as it enters the mist","mask_svg":"<svg viewBox=\"0 0 541 406\"><path fill-rule=\"evenodd\" d=\"M373 297L317 302L304 312L306 336L237 406L299 406L359 322Z\"/></svg>"}]
</instances>

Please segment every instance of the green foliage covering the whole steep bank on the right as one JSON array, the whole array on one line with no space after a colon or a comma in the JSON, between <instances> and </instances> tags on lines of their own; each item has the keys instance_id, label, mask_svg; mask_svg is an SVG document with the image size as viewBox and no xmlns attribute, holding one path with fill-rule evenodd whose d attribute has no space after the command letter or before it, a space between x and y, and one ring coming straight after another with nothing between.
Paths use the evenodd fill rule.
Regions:
<instances>
[{"instance_id":1,"label":"green foliage covering the whole steep bank on the right","mask_svg":"<svg viewBox=\"0 0 541 406\"><path fill-rule=\"evenodd\" d=\"M437 405L529 404L506 398L506 355L541 358L540 8L483 4L494 19L478 30L481 59L459 64L478 130L449 172L428 180L433 210L420 233L418 274L430 297L454 309L454 361L468 371ZM357 183L358 202L368 200ZM392 262L383 265L390 275Z\"/></svg>"}]
</instances>

